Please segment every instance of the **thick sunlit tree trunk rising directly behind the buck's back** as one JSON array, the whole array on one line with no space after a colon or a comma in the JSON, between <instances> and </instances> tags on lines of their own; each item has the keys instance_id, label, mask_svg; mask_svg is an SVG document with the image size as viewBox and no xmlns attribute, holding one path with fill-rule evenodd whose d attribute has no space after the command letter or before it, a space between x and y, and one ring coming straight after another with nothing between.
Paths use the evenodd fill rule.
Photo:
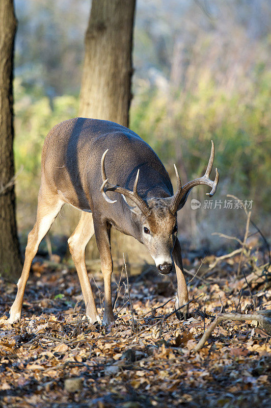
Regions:
<instances>
[{"instance_id":1,"label":"thick sunlit tree trunk rising directly behind the buck's back","mask_svg":"<svg viewBox=\"0 0 271 408\"><path fill-rule=\"evenodd\" d=\"M79 115L128 126L136 0L93 0Z\"/></svg>"}]
</instances>

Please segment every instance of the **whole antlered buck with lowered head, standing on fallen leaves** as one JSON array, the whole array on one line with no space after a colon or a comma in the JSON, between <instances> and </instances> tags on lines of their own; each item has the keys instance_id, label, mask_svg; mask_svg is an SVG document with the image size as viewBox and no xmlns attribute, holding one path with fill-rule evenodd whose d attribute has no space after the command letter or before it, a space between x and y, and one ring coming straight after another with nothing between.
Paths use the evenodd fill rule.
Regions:
<instances>
[{"instance_id":1,"label":"whole antlered buck with lowered head, standing on fallen leaves","mask_svg":"<svg viewBox=\"0 0 271 408\"><path fill-rule=\"evenodd\" d=\"M82 210L79 223L68 239L89 322L99 322L86 265L85 248L95 234L104 279L102 323L114 322L111 298L111 227L143 243L155 261L158 272L177 274L176 308L188 302L183 274L181 246L177 238L177 211L191 189L207 185L212 196L219 182L209 179L214 158L211 155L205 174L183 187L176 166L177 191L168 172L152 148L136 133L117 123L74 118L57 124L48 133L41 157L41 187L37 221L28 236L25 260L18 281L16 299L9 322L20 320L22 299L31 264L42 238L64 203ZM183 315L187 314L187 305Z\"/></svg>"}]
</instances>

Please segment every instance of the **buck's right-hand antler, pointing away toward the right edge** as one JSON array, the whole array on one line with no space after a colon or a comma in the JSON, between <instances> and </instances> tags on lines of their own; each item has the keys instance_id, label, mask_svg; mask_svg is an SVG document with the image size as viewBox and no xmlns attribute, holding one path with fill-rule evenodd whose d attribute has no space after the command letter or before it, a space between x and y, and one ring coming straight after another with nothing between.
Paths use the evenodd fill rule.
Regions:
<instances>
[{"instance_id":1,"label":"buck's right-hand antler, pointing away toward the right edge","mask_svg":"<svg viewBox=\"0 0 271 408\"><path fill-rule=\"evenodd\" d=\"M213 141L212 141L211 155L210 155L209 163L208 163L207 169L205 171L205 174L202 177L200 177L200 179L195 179L195 180L192 180L191 182L186 183L183 187L181 186L180 176L179 176L178 171L176 169L176 166L174 164L176 177L177 177L178 190L174 194L174 196L172 197L172 204L171 204L171 207L170 207L170 211L173 214L176 213L181 199L183 197L187 196L188 192L193 187L198 186L200 184L205 184L206 186L209 186L212 189L211 192L206 193L206 195L209 195L211 197L215 193L216 187L218 186L218 182L219 182L219 172L218 172L218 169L215 168L215 179L214 179L214 181L209 179L209 176L210 176L210 173L211 173L211 170L212 170L213 158L214 158L214 144L213 144Z\"/></svg>"}]
</instances>

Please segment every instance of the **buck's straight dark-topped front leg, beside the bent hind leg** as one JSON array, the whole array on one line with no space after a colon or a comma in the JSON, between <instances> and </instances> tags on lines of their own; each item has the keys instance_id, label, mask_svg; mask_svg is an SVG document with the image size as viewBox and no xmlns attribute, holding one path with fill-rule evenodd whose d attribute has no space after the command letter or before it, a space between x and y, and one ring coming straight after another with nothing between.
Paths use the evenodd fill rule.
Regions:
<instances>
[{"instance_id":1,"label":"buck's straight dark-topped front leg, beside the bent hind leg","mask_svg":"<svg viewBox=\"0 0 271 408\"><path fill-rule=\"evenodd\" d=\"M111 225L106 221L94 220L94 229L97 246L100 252L101 271L104 281L104 314L102 324L114 323L111 297L111 276L113 272L113 262L111 256L110 234Z\"/></svg>"}]
</instances>

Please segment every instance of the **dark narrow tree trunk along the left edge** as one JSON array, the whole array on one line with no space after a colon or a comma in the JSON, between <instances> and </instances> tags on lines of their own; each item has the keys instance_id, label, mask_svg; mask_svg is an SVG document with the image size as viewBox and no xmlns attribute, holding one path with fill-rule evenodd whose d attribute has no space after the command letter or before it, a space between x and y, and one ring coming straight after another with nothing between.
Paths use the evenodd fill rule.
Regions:
<instances>
[{"instance_id":1,"label":"dark narrow tree trunk along the left edge","mask_svg":"<svg viewBox=\"0 0 271 408\"><path fill-rule=\"evenodd\" d=\"M0 2L0 274L21 272L17 237L13 158L13 50L16 18L12 0Z\"/></svg>"}]
</instances>

